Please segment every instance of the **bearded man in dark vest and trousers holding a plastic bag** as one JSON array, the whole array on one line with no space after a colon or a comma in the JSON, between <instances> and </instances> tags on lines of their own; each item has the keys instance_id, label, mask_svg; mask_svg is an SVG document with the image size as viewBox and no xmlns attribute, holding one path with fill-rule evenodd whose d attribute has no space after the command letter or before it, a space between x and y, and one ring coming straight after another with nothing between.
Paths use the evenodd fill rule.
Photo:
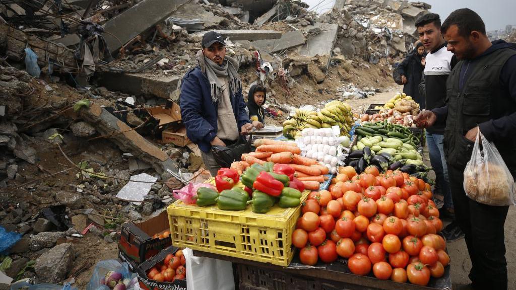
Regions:
<instances>
[{"instance_id":1,"label":"bearded man in dark vest and trousers holding a plastic bag","mask_svg":"<svg viewBox=\"0 0 516 290\"><path fill-rule=\"evenodd\" d=\"M480 130L516 176L516 44L490 42L482 19L466 8L452 12L441 31L460 62L446 85L447 105L421 112L415 120L424 126L445 124L455 216L472 262L469 288L507 289L504 223L509 206L468 198L463 174Z\"/></svg>"}]
</instances>

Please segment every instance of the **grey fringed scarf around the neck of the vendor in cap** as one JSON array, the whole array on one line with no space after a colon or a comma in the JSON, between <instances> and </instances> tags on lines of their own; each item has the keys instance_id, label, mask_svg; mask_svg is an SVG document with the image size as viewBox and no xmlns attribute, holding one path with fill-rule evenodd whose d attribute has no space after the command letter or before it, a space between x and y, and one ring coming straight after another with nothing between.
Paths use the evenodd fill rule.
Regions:
<instances>
[{"instance_id":1,"label":"grey fringed scarf around the neck of the vendor in cap","mask_svg":"<svg viewBox=\"0 0 516 290\"><path fill-rule=\"evenodd\" d=\"M204 57L202 50L200 50L197 52L197 60L201 71L205 72L208 77L213 103L217 103L222 96L224 84L220 82L218 77L228 77L230 96L235 95L242 88L240 77L236 72L238 62L234 58L225 56L222 66L219 66L216 62Z\"/></svg>"}]
</instances>

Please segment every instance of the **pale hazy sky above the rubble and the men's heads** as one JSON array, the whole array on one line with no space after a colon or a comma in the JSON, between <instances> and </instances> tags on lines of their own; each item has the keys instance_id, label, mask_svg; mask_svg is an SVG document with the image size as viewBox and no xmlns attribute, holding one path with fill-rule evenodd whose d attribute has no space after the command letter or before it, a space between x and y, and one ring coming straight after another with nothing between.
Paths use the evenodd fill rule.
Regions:
<instances>
[{"instance_id":1,"label":"pale hazy sky above the rubble and the men's heads","mask_svg":"<svg viewBox=\"0 0 516 290\"><path fill-rule=\"evenodd\" d=\"M325 12L333 7L335 0L303 0L310 10ZM411 1L415 2L415 1ZM505 25L516 26L516 0L426 0L432 5L433 13L441 15L444 21L455 9L470 8L486 23L487 30L505 29Z\"/></svg>"}]
</instances>

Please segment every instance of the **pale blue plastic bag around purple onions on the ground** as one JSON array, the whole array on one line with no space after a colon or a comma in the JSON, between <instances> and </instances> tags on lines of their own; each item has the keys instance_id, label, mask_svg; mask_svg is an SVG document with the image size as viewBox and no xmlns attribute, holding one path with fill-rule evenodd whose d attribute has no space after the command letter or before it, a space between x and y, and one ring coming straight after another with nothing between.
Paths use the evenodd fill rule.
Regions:
<instances>
[{"instance_id":1,"label":"pale blue plastic bag around purple onions on the ground","mask_svg":"<svg viewBox=\"0 0 516 290\"><path fill-rule=\"evenodd\" d=\"M108 282L106 281L106 274L109 271L121 274L126 290L134 289L134 285L138 283L136 274L129 271L127 263L120 263L117 260L104 260L95 265L90 282L86 285L86 290L109 290L110 288L106 286L106 282Z\"/></svg>"}]
</instances>

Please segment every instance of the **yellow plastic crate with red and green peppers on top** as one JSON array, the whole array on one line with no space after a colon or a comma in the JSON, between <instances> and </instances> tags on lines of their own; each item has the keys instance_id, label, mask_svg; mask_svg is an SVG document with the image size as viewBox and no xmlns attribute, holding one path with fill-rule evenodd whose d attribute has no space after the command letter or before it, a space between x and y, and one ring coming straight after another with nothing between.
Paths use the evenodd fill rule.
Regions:
<instances>
[{"instance_id":1,"label":"yellow plastic crate with red and green peppers on top","mask_svg":"<svg viewBox=\"0 0 516 290\"><path fill-rule=\"evenodd\" d=\"M301 201L309 193L305 190ZM268 213L256 214L251 205L244 211L222 211L217 205L199 207L178 200L167 211L175 247L280 266L288 266L294 256L292 232L300 206L281 208L276 204Z\"/></svg>"}]
</instances>

